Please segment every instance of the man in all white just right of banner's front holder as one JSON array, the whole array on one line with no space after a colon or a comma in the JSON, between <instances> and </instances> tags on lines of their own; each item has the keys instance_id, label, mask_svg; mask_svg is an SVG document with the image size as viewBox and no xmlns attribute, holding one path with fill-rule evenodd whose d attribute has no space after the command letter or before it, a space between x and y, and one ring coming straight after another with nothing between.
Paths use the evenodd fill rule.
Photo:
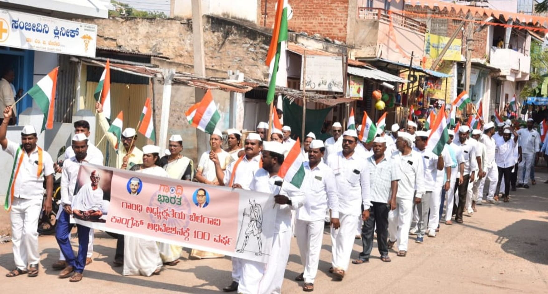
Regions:
<instances>
[{"instance_id":1,"label":"man in all white just right of banner's front holder","mask_svg":"<svg viewBox=\"0 0 548 294\"><path fill-rule=\"evenodd\" d=\"M304 271L295 278L304 281L304 291L314 289L314 280L318 272L319 252L322 249L324 211L329 208L335 216L331 219L338 227L339 194L333 170L322 162L325 147L322 140L313 140L310 144L309 162L304 163L307 177L302 190L307 195L306 203L297 211L296 237Z\"/></svg>"}]
</instances>

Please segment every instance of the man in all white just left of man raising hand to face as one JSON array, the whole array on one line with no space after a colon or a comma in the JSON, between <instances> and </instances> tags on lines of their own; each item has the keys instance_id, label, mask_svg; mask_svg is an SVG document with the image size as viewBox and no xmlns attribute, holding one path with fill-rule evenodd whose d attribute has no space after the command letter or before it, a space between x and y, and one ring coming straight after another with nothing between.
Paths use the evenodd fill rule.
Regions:
<instances>
[{"instance_id":1,"label":"man in all white just left of man raising hand to face","mask_svg":"<svg viewBox=\"0 0 548 294\"><path fill-rule=\"evenodd\" d=\"M481 183L478 187L478 202L477 204L483 202L483 187L486 180L489 180L489 191L487 193L487 203L499 204L498 200L495 200L495 190L496 190L496 181L499 178L499 169L496 167L495 162L495 149L496 143L493 139L495 134L495 125L493 122L488 122L483 126L483 134L479 138L479 142L483 143L485 146L485 158L483 162L485 166L483 167L483 172L485 177L481 179ZM496 196L496 198L499 198Z\"/></svg>"}]
</instances>

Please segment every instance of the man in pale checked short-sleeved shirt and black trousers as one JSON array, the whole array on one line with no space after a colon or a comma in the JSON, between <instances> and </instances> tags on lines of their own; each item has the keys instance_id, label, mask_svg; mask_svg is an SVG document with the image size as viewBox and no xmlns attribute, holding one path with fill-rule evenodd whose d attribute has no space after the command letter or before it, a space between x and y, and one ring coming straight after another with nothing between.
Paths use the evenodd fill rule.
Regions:
<instances>
[{"instance_id":1,"label":"man in pale checked short-sleeved shirt and black trousers","mask_svg":"<svg viewBox=\"0 0 548 294\"><path fill-rule=\"evenodd\" d=\"M373 156L367 158L367 172L371 188L369 219L362 227L363 251L352 263L361 264L369 262L369 256L373 250L373 232L377 232L377 245L379 247L380 260L390 262L388 257L388 214L396 209L396 194L400 178L399 164L396 159L385 156L386 139L376 137L373 141Z\"/></svg>"}]
</instances>

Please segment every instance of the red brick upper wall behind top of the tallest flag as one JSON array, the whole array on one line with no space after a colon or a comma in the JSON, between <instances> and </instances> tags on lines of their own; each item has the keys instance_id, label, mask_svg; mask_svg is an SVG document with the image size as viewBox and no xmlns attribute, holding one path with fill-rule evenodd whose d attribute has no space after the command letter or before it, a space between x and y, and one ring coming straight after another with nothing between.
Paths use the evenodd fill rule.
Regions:
<instances>
[{"instance_id":1,"label":"red brick upper wall behind top of the tallest flag","mask_svg":"<svg viewBox=\"0 0 548 294\"><path fill-rule=\"evenodd\" d=\"M265 2L267 4L266 27L272 27L276 15L276 0L260 0L259 25L264 25ZM293 18L289 20L289 30L321 34L341 42L346 41L349 0L289 0L293 8Z\"/></svg>"}]
</instances>

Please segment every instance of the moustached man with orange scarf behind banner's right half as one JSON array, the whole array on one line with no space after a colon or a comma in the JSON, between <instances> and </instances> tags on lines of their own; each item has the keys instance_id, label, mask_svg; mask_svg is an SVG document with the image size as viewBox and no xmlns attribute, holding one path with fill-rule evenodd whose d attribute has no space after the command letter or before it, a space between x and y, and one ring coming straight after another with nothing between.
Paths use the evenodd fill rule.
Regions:
<instances>
[{"instance_id":1,"label":"moustached man with orange scarf behind banner's right half","mask_svg":"<svg viewBox=\"0 0 548 294\"><path fill-rule=\"evenodd\" d=\"M248 134L244 143L246 155L233 161L222 170L218 158L214 158L215 171L219 185L236 189L250 190L249 185L257 170L261 168L262 140L258 133ZM222 289L225 292L238 290L238 282L242 278L242 259L232 257L232 283Z\"/></svg>"}]
</instances>

